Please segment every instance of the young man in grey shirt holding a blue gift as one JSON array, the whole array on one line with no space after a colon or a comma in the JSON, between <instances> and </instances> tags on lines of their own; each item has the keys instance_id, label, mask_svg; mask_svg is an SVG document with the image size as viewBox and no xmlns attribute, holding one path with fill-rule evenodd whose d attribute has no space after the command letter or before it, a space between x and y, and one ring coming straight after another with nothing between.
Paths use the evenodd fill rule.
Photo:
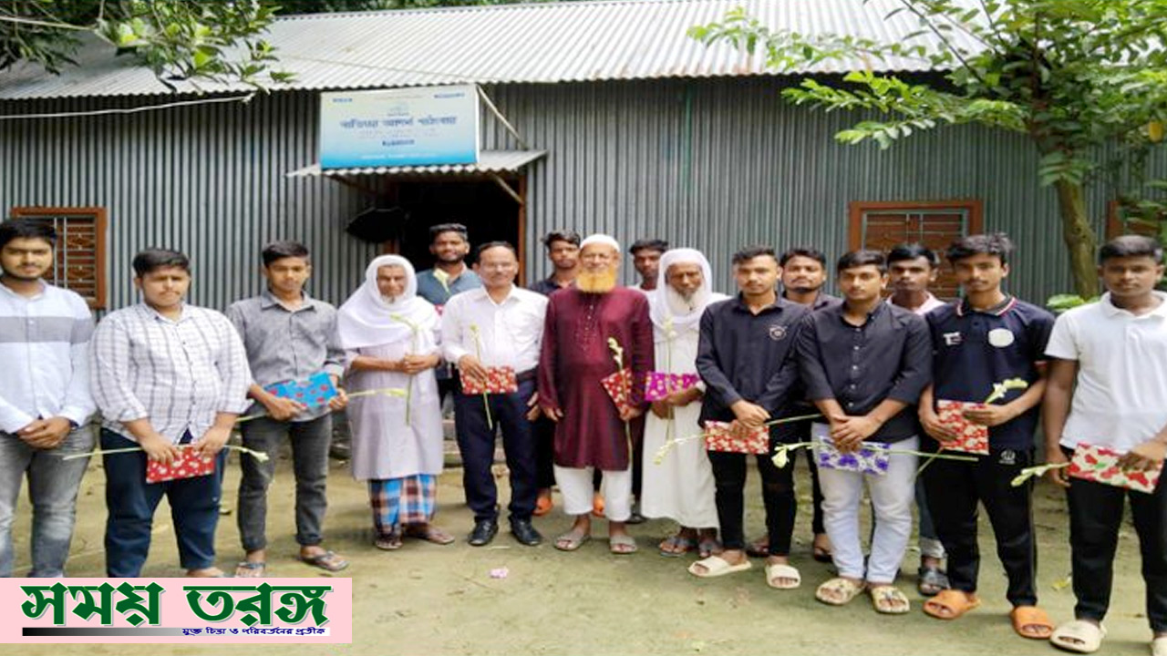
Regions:
<instances>
[{"instance_id":1,"label":"young man in grey shirt holding a blue gift","mask_svg":"<svg viewBox=\"0 0 1167 656\"><path fill-rule=\"evenodd\" d=\"M328 572L340 572L348 561L321 546L328 447L333 438L331 411L347 403L344 390L327 405L308 407L266 390L285 381L303 381L324 372L333 385L344 372L344 351L336 341L336 308L313 299L305 291L312 275L308 249L295 242L275 242L264 247L263 274L267 288L238 301L226 310L235 324L254 382L250 396L256 403L249 414L266 414L239 425L243 446L264 452L268 460L240 460L239 537L246 556L236 566L237 577L263 577L267 560L267 488L275 475L280 444L292 442L295 474L295 524L300 560Z\"/></svg>"}]
</instances>

